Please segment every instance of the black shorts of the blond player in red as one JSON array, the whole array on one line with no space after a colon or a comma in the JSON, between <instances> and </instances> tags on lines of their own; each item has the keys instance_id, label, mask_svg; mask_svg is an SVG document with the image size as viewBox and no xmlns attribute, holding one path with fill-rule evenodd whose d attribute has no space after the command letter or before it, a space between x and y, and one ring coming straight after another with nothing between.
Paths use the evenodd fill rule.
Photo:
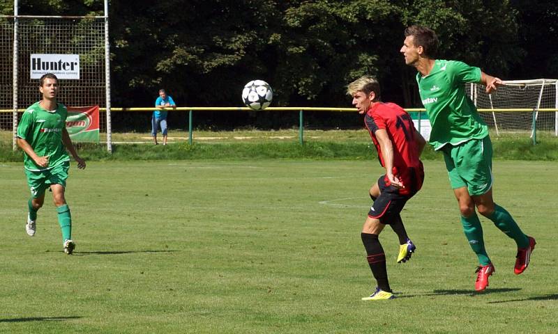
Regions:
<instances>
[{"instance_id":1,"label":"black shorts of the blond player in red","mask_svg":"<svg viewBox=\"0 0 558 334\"><path fill-rule=\"evenodd\" d=\"M379 196L374 201L368 216L370 218L379 219L382 224L390 224L395 222L395 218L400 214L407 200L412 198L416 191L405 191L405 194L400 193L399 189L395 186L386 185L386 175L378 180Z\"/></svg>"}]
</instances>

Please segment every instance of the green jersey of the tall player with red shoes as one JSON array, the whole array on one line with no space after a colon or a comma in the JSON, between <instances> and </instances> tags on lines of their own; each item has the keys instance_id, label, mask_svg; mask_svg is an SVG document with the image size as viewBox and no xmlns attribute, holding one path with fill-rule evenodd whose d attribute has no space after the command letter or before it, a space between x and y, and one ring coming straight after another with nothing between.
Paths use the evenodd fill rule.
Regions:
<instances>
[{"instance_id":1,"label":"green jersey of the tall player with red shoes","mask_svg":"<svg viewBox=\"0 0 558 334\"><path fill-rule=\"evenodd\" d=\"M418 91L432 127L430 144L439 150L488 135L488 126L465 94L465 84L481 81L481 69L460 61L437 60L430 74L416 74Z\"/></svg>"}]
</instances>

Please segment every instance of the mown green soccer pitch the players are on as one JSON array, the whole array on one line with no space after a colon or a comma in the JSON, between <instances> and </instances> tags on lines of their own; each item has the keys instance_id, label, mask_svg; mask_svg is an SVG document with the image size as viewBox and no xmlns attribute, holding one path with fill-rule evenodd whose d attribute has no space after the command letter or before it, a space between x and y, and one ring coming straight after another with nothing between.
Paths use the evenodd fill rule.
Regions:
<instances>
[{"instance_id":1,"label":"mown green soccer pitch the players are on","mask_svg":"<svg viewBox=\"0 0 558 334\"><path fill-rule=\"evenodd\" d=\"M558 164L495 163L497 201L538 244L515 276L515 244L482 219L496 273L481 295L446 172L425 168L402 213L416 255L396 264L395 234L380 238L398 299L363 302L375 161L73 166L72 256L50 193L27 237L22 164L0 164L0 333L556 333Z\"/></svg>"}]
</instances>

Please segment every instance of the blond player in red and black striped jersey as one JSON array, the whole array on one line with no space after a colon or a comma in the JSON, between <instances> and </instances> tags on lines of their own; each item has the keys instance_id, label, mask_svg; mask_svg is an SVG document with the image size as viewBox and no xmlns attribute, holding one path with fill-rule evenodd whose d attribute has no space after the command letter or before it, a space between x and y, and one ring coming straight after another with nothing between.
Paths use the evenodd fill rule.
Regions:
<instances>
[{"instance_id":1,"label":"blond player in red and black striped jersey","mask_svg":"<svg viewBox=\"0 0 558 334\"><path fill-rule=\"evenodd\" d=\"M363 300L393 299L395 295L389 287L386 255L378 236L386 225L391 225L400 243L398 263L409 260L415 251L400 212L423 184L424 170L419 157L426 142L405 110L397 104L380 102L376 79L356 79L347 86L347 94L352 96L352 104L364 115L364 124L378 152L379 162L386 168L386 174L370 188L374 204L361 232L366 258L377 281L375 292Z\"/></svg>"}]
</instances>

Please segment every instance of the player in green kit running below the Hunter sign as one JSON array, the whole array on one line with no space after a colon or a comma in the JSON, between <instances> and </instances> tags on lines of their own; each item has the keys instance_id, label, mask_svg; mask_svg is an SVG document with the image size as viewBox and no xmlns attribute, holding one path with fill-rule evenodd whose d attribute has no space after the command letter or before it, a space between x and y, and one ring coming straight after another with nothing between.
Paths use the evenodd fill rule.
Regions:
<instances>
[{"instance_id":1,"label":"player in green kit running below the Hunter sign","mask_svg":"<svg viewBox=\"0 0 558 334\"><path fill-rule=\"evenodd\" d=\"M25 174L31 189L25 228L29 236L35 235L37 211L45 202L46 189L50 188L62 230L64 253L72 254L75 248L72 240L72 217L64 197L70 168L70 157L66 150L77 161L77 168L85 168L85 161L77 155L66 131L68 110L63 104L56 102L58 79L52 73L45 74L40 78L39 84L43 100L29 106L17 126L17 145L25 153Z\"/></svg>"}]
</instances>

